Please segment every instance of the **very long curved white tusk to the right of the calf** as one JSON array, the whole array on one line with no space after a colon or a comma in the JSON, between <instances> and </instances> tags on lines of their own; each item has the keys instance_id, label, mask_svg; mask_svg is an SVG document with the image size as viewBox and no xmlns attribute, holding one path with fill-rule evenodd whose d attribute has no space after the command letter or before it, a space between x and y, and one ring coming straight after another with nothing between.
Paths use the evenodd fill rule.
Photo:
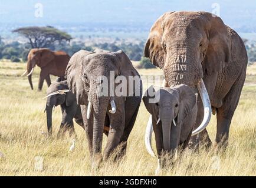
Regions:
<instances>
[{"instance_id":1,"label":"very long curved white tusk to the right of the calf","mask_svg":"<svg viewBox=\"0 0 256 188\"><path fill-rule=\"evenodd\" d=\"M200 93L200 96L204 105L204 119L201 125L192 132L192 136L197 135L198 133L202 132L202 130L206 128L206 126L211 120L211 113L212 113L211 102L209 99L208 92L205 88L203 79L200 79L198 82L198 91Z\"/></svg>"}]
</instances>

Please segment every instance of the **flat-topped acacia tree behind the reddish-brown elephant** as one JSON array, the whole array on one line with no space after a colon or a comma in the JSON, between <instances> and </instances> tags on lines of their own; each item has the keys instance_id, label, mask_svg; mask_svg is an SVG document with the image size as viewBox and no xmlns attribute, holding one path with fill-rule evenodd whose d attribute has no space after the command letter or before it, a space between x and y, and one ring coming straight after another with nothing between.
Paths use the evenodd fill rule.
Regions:
<instances>
[{"instance_id":1,"label":"flat-topped acacia tree behind the reddish-brown elephant","mask_svg":"<svg viewBox=\"0 0 256 188\"><path fill-rule=\"evenodd\" d=\"M72 39L68 33L60 31L52 26L24 27L15 29L12 32L17 32L29 40L32 48L49 48L53 43L68 41Z\"/></svg>"}]
</instances>

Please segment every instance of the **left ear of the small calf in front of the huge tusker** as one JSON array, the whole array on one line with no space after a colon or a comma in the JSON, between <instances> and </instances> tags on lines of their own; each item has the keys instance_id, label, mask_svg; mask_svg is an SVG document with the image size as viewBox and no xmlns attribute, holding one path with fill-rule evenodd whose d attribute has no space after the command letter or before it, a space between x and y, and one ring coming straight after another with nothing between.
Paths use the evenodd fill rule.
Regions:
<instances>
[{"instance_id":1,"label":"left ear of the small calf in front of the huge tusker","mask_svg":"<svg viewBox=\"0 0 256 188\"><path fill-rule=\"evenodd\" d=\"M157 92L154 86L150 86L146 90L142 98L147 111L156 117L158 115L157 102L159 100L157 100L157 96L156 96L158 93L159 92Z\"/></svg>"}]
</instances>

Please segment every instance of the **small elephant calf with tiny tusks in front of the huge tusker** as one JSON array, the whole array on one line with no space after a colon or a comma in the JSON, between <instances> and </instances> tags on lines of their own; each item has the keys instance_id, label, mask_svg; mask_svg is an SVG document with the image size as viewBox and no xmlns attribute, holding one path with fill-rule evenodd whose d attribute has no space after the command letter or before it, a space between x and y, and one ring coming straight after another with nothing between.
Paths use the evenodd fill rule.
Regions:
<instances>
[{"instance_id":1,"label":"small elephant calf with tiny tusks in front of the huge tusker","mask_svg":"<svg viewBox=\"0 0 256 188\"><path fill-rule=\"evenodd\" d=\"M147 151L155 156L151 146L153 126L158 158L160 159L163 153L168 153L172 159L179 146L181 149L188 146L196 121L195 93L189 86L183 84L173 88L157 89L150 86L143 96L143 102L152 116L150 119L152 122L149 120L146 129Z\"/></svg>"}]
</instances>

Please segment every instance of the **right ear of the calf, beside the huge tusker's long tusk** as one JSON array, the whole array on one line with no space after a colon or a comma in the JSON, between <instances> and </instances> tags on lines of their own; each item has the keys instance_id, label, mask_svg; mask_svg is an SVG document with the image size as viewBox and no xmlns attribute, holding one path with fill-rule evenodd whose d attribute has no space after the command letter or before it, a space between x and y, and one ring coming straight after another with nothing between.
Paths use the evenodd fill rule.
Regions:
<instances>
[{"instance_id":1,"label":"right ear of the calf, beside the huge tusker's long tusk","mask_svg":"<svg viewBox=\"0 0 256 188\"><path fill-rule=\"evenodd\" d=\"M173 89L179 92L178 123L180 123L196 105L196 95L189 86L184 84L175 86Z\"/></svg>"}]
</instances>

